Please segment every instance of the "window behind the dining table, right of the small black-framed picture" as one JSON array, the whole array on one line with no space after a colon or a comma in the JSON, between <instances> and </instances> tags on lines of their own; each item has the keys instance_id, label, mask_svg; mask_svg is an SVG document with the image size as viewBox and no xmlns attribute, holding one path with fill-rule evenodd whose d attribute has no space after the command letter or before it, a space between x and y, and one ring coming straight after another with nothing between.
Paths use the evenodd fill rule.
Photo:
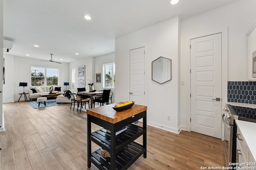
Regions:
<instances>
[{"instance_id":1,"label":"window behind the dining table, right of the small black-framed picture","mask_svg":"<svg viewBox=\"0 0 256 170\"><path fill-rule=\"evenodd\" d=\"M103 87L115 88L115 63L103 64Z\"/></svg>"}]
</instances>

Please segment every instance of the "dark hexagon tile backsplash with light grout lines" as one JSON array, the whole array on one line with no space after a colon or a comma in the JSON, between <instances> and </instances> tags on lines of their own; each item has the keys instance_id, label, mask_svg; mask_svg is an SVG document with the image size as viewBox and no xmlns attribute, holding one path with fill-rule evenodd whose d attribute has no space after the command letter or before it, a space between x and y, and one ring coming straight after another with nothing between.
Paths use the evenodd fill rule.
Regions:
<instances>
[{"instance_id":1,"label":"dark hexagon tile backsplash with light grout lines","mask_svg":"<svg viewBox=\"0 0 256 170\"><path fill-rule=\"evenodd\" d=\"M256 82L228 82L228 102L256 104Z\"/></svg>"}]
</instances>

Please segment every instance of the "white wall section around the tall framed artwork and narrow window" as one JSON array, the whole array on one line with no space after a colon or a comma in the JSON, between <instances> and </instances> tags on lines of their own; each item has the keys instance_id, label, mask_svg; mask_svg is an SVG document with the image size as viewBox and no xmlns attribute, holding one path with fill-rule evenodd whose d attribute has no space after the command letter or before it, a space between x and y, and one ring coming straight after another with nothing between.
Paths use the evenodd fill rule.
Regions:
<instances>
[{"instance_id":1,"label":"white wall section around the tall framed artwork and narrow window","mask_svg":"<svg viewBox=\"0 0 256 170\"><path fill-rule=\"evenodd\" d=\"M78 61L69 63L70 76L69 76L68 89L78 88L78 66L83 66L83 65L85 65L85 86L84 87L86 88L86 90L89 90L89 86L87 84L90 82L90 80L92 82L94 82L94 84L95 84L95 70L94 70L95 60L94 60L94 57L88 57L88 58L80 59ZM72 83L72 75L71 75L72 68L76 69L76 82L75 83Z\"/></svg>"}]
</instances>

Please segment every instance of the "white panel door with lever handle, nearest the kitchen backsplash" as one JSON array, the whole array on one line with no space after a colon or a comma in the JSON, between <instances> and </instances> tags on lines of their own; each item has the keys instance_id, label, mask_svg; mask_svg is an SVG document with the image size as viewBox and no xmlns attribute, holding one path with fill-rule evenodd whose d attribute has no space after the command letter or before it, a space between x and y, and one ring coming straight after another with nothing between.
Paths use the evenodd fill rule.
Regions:
<instances>
[{"instance_id":1,"label":"white panel door with lever handle, nearest the kitchen backsplash","mask_svg":"<svg viewBox=\"0 0 256 170\"><path fill-rule=\"evenodd\" d=\"M221 139L221 33L190 45L191 131Z\"/></svg>"}]
</instances>

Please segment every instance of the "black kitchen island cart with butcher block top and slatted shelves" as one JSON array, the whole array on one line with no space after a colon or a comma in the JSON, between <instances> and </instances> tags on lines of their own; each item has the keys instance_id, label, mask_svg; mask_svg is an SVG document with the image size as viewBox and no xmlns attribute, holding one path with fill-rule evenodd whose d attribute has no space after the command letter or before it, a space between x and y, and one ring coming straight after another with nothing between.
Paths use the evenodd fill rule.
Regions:
<instances>
[{"instance_id":1,"label":"black kitchen island cart with butcher block top and slatted shelves","mask_svg":"<svg viewBox=\"0 0 256 170\"><path fill-rule=\"evenodd\" d=\"M118 103L117 103L118 104ZM87 109L88 135L88 168L91 163L100 170L125 170L129 168L142 154L146 158L146 110L147 106L136 105L124 111L115 111L109 104L102 107ZM143 118L143 127L133 122ZM91 131L91 123L103 127L96 132ZM127 127L125 131L116 135L116 131ZM108 130L108 131L107 131ZM143 145L134 142L142 135ZM92 152L92 141L110 153L110 157L103 158L101 150Z\"/></svg>"}]
</instances>

